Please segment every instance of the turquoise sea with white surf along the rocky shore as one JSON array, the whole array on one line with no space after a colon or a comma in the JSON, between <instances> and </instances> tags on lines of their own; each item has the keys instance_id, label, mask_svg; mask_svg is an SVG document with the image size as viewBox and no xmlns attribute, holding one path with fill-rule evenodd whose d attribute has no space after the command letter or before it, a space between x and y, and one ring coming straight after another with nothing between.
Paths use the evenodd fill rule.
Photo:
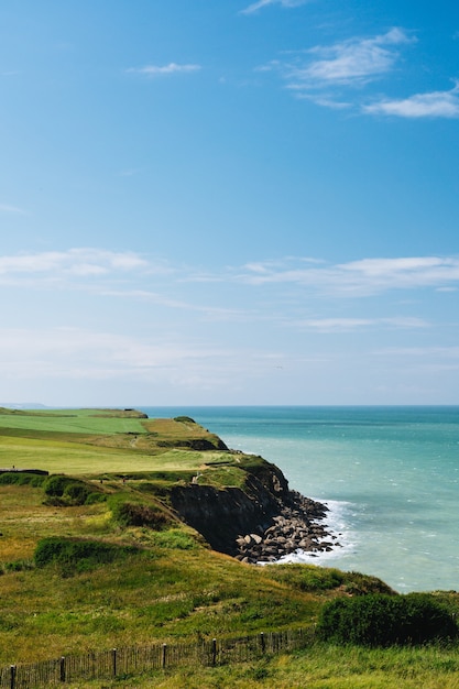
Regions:
<instances>
[{"instance_id":1,"label":"turquoise sea with white surf along the rocky shore","mask_svg":"<svg viewBox=\"0 0 459 689\"><path fill-rule=\"evenodd\" d=\"M190 416L328 506L340 546L287 561L373 575L401 593L459 590L459 406L142 411Z\"/></svg>"}]
</instances>

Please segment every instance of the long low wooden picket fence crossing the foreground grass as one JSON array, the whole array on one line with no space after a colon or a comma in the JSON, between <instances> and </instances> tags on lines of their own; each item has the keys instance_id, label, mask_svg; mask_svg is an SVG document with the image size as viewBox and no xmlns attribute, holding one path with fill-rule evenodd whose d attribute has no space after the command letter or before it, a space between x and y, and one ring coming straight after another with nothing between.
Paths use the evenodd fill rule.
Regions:
<instances>
[{"instance_id":1,"label":"long low wooden picket fence crossing the foreground grass","mask_svg":"<svg viewBox=\"0 0 459 689\"><path fill-rule=\"evenodd\" d=\"M312 630L285 630L232 638L214 638L197 644L153 644L112 648L54 660L0 668L0 688L33 689L62 686L81 679L110 679L149 670L187 665L225 665L261 658L308 646Z\"/></svg>"}]
</instances>

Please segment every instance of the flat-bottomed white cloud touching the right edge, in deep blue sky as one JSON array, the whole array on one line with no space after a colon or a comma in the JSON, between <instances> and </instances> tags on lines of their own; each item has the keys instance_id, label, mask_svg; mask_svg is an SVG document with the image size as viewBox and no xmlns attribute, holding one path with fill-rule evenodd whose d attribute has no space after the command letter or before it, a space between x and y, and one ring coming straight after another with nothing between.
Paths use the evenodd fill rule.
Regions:
<instances>
[{"instance_id":1,"label":"flat-bottomed white cloud touching the right edge, in deep blue sky","mask_svg":"<svg viewBox=\"0 0 459 689\"><path fill-rule=\"evenodd\" d=\"M363 107L370 114L403 118L457 118L459 117L459 83L449 91L417 94L409 98L384 99Z\"/></svg>"}]
</instances>

